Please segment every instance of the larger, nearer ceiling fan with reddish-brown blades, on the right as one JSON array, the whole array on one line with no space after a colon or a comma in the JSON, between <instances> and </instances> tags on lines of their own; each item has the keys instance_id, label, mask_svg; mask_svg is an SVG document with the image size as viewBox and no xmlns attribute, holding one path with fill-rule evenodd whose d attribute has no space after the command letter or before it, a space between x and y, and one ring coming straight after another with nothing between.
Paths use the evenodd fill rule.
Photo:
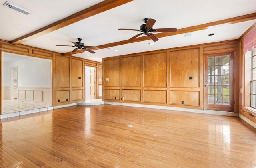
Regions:
<instances>
[{"instance_id":1,"label":"larger, nearer ceiling fan with reddish-brown blades, on the right","mask_svg":"<svg viewBox=\"0 0 256 168\"><path fill-rule=\"evenodd\" d=\"M154 42L156 42L159 39L151 32L154 32L154 33L156 33L156 32L177 32L176 28L153 29L152 27L156 22L156 20L154 20L154 19L145 18L145 19L143 19L143 21L145 22L145 24L142 24L140 26L140 30L138 30L138 29L118 29L118 30L134 30L134 31L142 32L142 33L136 34L129 40L133 40L134 38L136 38L142 34L145 34L145 35L149 36Z\"/></svg>"}]
</instances>

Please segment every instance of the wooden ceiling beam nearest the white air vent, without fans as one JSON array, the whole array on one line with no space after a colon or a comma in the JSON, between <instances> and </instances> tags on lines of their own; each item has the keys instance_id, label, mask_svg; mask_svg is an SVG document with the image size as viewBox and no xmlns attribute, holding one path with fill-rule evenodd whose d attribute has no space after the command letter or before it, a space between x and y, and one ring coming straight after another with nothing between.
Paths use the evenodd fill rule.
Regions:
<instances>
[{"instance_id":1,"label":"wooden ceiling beam nearest the white air vent, without fans","mask_svg":"<svg viewBox=\"0 0 256 168\"><path fill-rule=\"evenodd\" d=\"M117 6L126 4L128 2L131 2L133 0L104 0L103 2L100 2L94 6L91 6L89 8L86 8L84 10L81 10L80 12L77 12L75 14L72 14L62 20L59 20L57 22L54 22L48 26L45 26L43 28L40 28L34 32L31 32L29 34L26 34L20 38L16 38L15 40L12 40L10 44L19 44L22 42L26 42L28 40L31 40L33 38L36 38L38 36L42 36L44 34L50 33L54 30L63 28L65 26L68 26L70 24L73 24L75 22L78 22L80 20L83 20L85 18L89 18L90 16L94 16L96 14L99 14L101 12L110 10L112 8L115 8Z\"/></svg>"}]
</instances>

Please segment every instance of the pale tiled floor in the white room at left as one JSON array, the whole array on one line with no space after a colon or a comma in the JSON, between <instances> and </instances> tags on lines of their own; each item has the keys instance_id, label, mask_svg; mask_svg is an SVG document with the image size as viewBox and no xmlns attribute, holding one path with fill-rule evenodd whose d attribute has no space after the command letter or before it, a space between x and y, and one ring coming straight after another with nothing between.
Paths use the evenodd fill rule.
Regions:
<instances>
[{"instance_id":1,"label":"pale tiled floor in the white room at left","mask_svg":"<svg viewBox=\"0 0 256 168\"><path fill-rule=\"evenodd\" d=\"M26 100L3 100L3 114L14 113L18 111L26 111L32 109L39 109L43 107L50 107L51 103L33 102Z\"/></svg>"}]
</instances>

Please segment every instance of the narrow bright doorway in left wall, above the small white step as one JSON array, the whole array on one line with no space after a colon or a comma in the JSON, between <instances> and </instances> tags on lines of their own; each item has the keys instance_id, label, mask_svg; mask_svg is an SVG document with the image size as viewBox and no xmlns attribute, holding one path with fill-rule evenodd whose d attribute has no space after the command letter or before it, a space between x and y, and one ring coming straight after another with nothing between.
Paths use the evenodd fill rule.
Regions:
<instances>
[{"instance_id":1,"label":"narrow bright doorway in left wall, above the small white step","mask_svg":"<svg viewBox=\"0 0 256 168\"><path fill-rule=\"evenodd\" d=\"M96 68L85 66L85 99L96 99Z\"/></svg>"}]
</instances>

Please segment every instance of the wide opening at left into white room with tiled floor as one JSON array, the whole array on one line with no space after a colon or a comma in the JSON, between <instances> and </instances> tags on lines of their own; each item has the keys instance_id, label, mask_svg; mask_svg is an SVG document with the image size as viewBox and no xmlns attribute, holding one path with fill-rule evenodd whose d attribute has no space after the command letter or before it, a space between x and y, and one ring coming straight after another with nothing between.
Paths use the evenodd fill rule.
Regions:
<instances>
[{"instance_id":1,"label":"wide opening at left into white room with tiled floor","mask_svg":"<svg viewBox=\"0 0 256 168\"><path fill-rule=\"evenodd\" d=\"M51 106L52 60L2 52L2 114Z\"/></svg>"}]
</instances>

